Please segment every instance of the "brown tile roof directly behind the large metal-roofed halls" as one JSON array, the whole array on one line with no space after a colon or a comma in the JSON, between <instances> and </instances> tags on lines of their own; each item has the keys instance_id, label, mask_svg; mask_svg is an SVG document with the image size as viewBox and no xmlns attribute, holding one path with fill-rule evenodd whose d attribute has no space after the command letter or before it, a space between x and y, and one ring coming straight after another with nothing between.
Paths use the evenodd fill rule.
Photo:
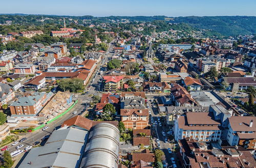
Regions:
<instances>
[{"instance_id":1,"label":"brown tile roof directly behind the large metal-roofed halls","mask_svg":"<svg viewBox=\"0 0 256 168\"><path fill-rule=\"evenodd\" d=\"M65 127L65 126L72 126L72 125L76 125L79 126L81 128L90 130L94 125L98 124L98 123L110 123L115 125L116 127L118 127L118 121L92 121L90 119L81 117L81 116L76 116L73 117L69 120L66 120L65 122L63 122L63 124L61 125L61 127Z\"/></svg>"}]
</instances>

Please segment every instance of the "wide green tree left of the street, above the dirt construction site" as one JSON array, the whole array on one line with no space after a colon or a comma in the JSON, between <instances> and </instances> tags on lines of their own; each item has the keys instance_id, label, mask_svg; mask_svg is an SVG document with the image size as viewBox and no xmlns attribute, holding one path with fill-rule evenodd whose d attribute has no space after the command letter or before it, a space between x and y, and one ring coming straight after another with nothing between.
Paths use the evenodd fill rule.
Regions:
<instances>
[{"instance_id":1,"label":"wide green tree left of the street, above the dirt construction site","mask_svg":"<svg viewBox=\"0 0 256 168\"><path fill-rule=\"evenodd\" d=\"M83 90L83 80L79 78L62 79L58 82L58 87L62 91L77 92Z\"/></svg>"}]
</instances>

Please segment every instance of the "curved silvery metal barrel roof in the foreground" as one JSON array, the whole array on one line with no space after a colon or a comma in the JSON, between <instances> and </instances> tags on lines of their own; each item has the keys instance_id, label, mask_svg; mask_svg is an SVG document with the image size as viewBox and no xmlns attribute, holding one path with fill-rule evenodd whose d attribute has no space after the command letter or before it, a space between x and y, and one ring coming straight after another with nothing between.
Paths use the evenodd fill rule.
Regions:
<instances>
[{"instance_id":1,"label":"curved silvery metal barrel roof in the foreground","mask_svg":"<svg viewBox=\"0 0 256 168\"><path fill-rule=\"evenodd\" d=\"M92 127L80 167L118 167L119 130L110 123Z\"/></svg>"}]
</instances>

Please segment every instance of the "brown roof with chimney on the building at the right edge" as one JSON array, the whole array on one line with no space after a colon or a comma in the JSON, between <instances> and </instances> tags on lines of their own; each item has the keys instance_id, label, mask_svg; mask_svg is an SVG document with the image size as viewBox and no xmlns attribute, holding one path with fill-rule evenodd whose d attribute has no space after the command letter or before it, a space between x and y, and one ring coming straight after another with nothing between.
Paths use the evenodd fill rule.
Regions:
<instances>
[{"instance_id":1,"label":"brown roof with chimney on the building at the right edge","mask_svg":"<svg viewBox=\"0 0 256 168\"><path fill-rule=\"evenodd\" d=\"M233 131L256 132L256 117L254 116L231 116L228 120ZM249 127L251 120L253 124Z\"/></svg>"}]
</instances>

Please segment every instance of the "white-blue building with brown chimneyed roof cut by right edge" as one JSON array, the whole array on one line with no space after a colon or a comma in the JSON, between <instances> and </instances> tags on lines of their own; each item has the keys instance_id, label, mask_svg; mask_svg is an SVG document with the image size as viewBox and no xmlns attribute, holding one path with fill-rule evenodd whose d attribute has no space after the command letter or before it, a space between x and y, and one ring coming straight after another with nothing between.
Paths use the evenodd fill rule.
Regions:
<instances>
[{"instance_id":1,"label":"white-blue building with brown chimneyed roof cut by right edge","mask_svg":"<svg viewBox=\"0 0 256 168\"><path fill-rule=\"evenodd\" d=\"M227 142L231 146L256 149L256 117L232 116L228 118Z\"/></svg>"}]
</instances>

